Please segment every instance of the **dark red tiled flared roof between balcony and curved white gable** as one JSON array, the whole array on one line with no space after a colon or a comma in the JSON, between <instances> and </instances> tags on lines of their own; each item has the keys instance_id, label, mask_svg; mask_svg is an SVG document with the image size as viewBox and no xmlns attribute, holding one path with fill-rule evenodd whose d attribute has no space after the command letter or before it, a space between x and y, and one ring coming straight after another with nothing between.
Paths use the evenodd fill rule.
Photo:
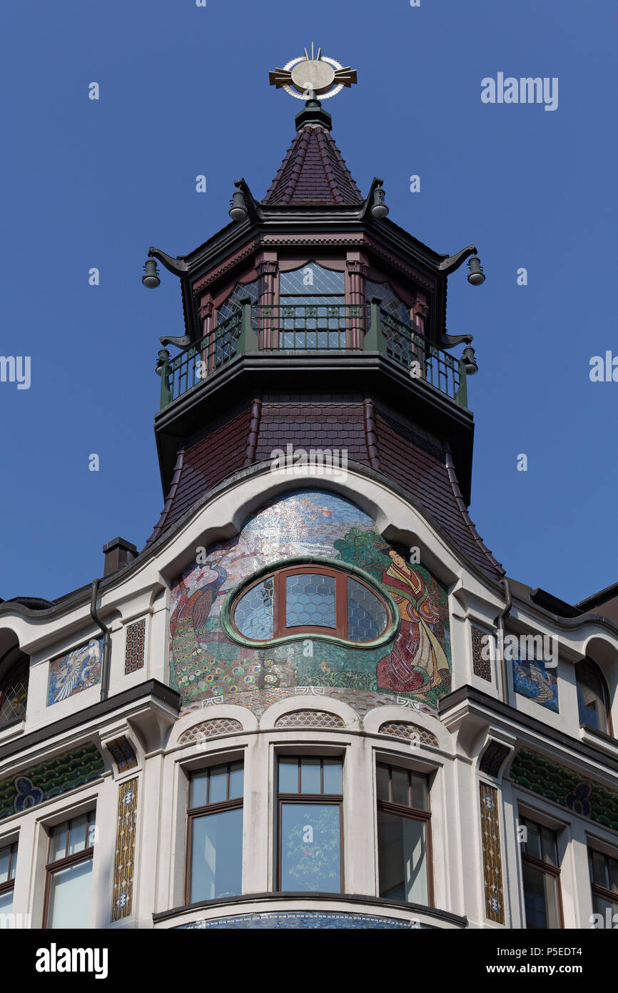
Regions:
<instances>
[{"instance_id":1,"label":"dark red tiled flared roof between balcony and curved white gable","mask_svg":"<svg viewBox=\"0 0 618 993\"><path fill-rule=\"evenodd\" d=\"M242 405L180 451L164 511L149 542L208 490L247 465L250 423L251 406ZM371 466L362 396L265 395L254 461L267 461L274 449L286 451L288 444L307 451L344 449L349 462ZM486 576L499 580L504 569L470 520L448 449L381 404L375 410L375 445L377 471L408 491L455 549Z\"/></svg>"}]
</instances>

